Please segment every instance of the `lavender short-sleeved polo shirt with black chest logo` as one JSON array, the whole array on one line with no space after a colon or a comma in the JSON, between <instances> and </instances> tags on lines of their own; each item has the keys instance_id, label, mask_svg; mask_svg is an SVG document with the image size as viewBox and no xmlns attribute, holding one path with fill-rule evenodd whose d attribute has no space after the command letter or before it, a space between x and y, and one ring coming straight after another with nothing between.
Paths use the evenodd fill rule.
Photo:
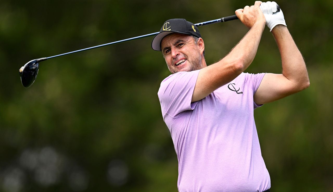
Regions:
<instances>
[{"instance_id":1,"label":"lavender short-sleeved polo shirt with black chest logo","mask_svg":"<svg viewBox=\"0 0 333 192\"><path fill-rule=\"evenodd\" d=\"M158 96L178 158L178 190L258 191L270 188L261 156L253 95L265 75L242 73L205 98L191 98L200 70L178 72Z\"/></svg>"}]
</instances>

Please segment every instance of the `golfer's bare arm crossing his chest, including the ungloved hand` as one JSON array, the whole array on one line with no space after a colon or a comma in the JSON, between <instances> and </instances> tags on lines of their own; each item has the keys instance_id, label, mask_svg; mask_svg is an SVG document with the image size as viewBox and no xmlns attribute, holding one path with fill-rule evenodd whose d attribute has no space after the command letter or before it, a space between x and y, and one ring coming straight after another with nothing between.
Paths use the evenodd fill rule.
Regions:
<instances>
[{"instance_id":1,"label":"golfer's bare arm crossing his chest, including the ungloved hand","mask_svg":"<svg viewBox=\"0 0 333 192\"><path fill-rule=\"evenodd\" d=\"M265 27L265 17L260 10L260 3L256 1L251 7L245 6L244 9L235 11L239 20L250 30L227 56L200 70L192 102L206 97L217 88L229 83L251 64Z\"/></svg>"}]
</instances>

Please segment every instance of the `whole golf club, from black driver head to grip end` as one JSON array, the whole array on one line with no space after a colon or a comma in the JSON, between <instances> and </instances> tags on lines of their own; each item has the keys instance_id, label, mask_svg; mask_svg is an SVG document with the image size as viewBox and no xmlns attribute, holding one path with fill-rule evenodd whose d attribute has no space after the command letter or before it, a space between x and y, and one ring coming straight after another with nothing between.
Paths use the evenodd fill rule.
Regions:
<instances>
[{"instance_id":1,"label":"whole golf club, from black driver head to grip end","mask_svg":"<svg viewBox=\"0 0 333 192\"><path fill-rule=\"evenodd\" d=\"M279 12L279 11L280 11L280 7L277 5L277 12ZM227 22L227 21L232 21L232 20L235 20L235 19L238 19L238 17L236 15L232 15L232 16L228 16L228 17L222 17L220 19L215 19L215 20L211 20L211 21L197 23L197 24L195 24L195 26L198 27L198 26L204 26L204 25L209 25L209 24L214 24L214 23L219 23L219 22ZM138 37L133 37L133 38L124 39L124 40L120 40L120 41L115 41L115 42L111 42L111 43L107 43L107 44L103 44L103 45L98 45L98 46L94 46L94 47L80 49L80 50L77 50L77 51L63 53L63 54L60 54L60 55L55 55L55 56L51 56L51 57L44 57L44 58L40 58L40 59L31 60L28 63L26 63L23 67L21 67L20 70L19 70L22 85L25 88L28 88L35 82L37 74L38 74L39 62L42 62L42 61L45 61L45 60L48 60L48 59L52 59L52 58L56 58L56 57L60 57L60 56L64 56L64 55L69 55L69 54L78 53L78 52L87 51L87 50L92 50L92 49L105 47L105 46L109 46L109 45L124 43L124 42L133 41L133 40L137 40L137 39L142 39L142 38L146 38L146 37L151 37L151 36L154 36L158 33L159 32L150 33L150 34L147 34L147 35L141 35L141 36L138 36Z\"/></svg>"}]
</instances>

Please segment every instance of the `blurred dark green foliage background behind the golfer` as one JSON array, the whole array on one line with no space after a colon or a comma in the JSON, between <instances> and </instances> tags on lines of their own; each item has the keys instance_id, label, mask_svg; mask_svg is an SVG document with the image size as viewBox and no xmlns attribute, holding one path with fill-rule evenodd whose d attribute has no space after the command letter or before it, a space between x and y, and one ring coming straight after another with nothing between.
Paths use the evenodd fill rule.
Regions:
<instances>
[{"instance_id":1,"label":"blurred dark green foliage background behind the golfer","mask_svg":"<svg viewBox=\"0 0 333 192\"><path fill-rule=\"evenodd\" d=\"M281 0L310 87L255 110L271 191L333 189L333 1ZM234 15L254 1L1 1L0 191L176 191L177 158L157 91L170 73L151 38L42 62L32 59L145 35L170 18ZM199 28L206 62L246 34L239 20ZM268 28L249 73L281 73Z\"/></svg>"}]
</instances>

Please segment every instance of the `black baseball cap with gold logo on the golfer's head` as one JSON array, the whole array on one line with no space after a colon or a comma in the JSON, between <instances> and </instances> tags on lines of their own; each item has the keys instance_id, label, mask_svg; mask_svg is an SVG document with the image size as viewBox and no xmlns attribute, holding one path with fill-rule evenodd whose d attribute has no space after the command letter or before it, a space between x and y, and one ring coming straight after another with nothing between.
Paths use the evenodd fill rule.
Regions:
<instances>
[{"instance_id":1,"label":"black baseball cap with gold logo on the golfer's head","mask_svg":"<svg viewBox=\"0 0 333 192\"><path fill-rule=\"evenodd\" d=\"M160 33L154 37L152 48L155 51L161 51L161 41L170 33L194 35L197 38L201 37L199 29L193 23L188 22L185 19L169 19L164 22Z\"/></svg>"}]
</instances>

